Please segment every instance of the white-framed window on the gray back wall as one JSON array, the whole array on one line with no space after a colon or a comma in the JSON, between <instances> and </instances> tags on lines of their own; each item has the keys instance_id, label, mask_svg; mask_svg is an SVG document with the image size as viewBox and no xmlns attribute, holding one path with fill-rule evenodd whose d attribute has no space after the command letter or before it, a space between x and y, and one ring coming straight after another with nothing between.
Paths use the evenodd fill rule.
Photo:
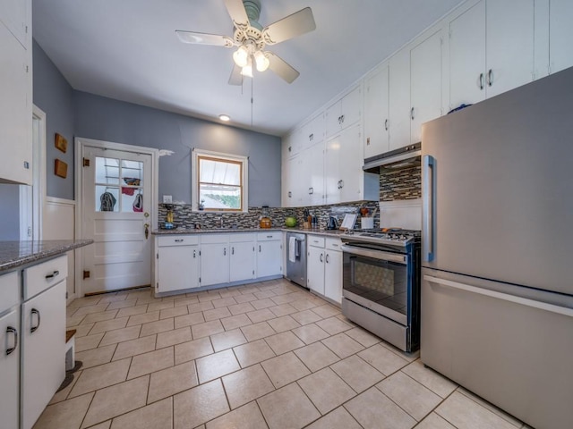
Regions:
<instances>
[{"instance_id":1,"label":"white-framed window on the gray back wall","mask_svg":"<svg viewBox=\"0 0 573 429\"><path fill-rule=\"evenodd\" d=\"M249 158L192 151L192 207L215 212L247 211Z\"/></svg>"}]
</instances>

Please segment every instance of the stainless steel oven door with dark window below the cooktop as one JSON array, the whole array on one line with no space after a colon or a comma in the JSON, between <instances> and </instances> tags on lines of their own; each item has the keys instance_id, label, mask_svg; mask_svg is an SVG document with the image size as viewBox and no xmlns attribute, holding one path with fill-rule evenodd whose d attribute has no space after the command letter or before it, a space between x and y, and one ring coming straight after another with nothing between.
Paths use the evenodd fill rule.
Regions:
<instances>
[{"instance_id":1,"label":"stainless steel oven door with dark window below the cooktop","mask_svg":"<svg viewBox=\"0 0 573 429\"><path fill-rule=\"evenodd\" d=\"M398 324L409 324L408 256L343 245L342 294Z\"/></svg>"}]
</instances>

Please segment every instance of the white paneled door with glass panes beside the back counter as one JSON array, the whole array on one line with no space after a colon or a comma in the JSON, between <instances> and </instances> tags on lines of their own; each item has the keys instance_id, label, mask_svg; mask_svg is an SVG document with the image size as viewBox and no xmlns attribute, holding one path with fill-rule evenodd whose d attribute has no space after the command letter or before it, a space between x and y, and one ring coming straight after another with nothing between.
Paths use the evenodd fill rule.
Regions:
<instances>
[{"instance_id":1,"label":"white paneled door with glass panes beside the back counter","mask_svg":"<svg viewBox=\"0 0 573 429\"><path fill-rule=\"evenodd\" d=\"M83 251L86 294L151 283L151 155L83 149Z\"/></svg>"}]
</instances>

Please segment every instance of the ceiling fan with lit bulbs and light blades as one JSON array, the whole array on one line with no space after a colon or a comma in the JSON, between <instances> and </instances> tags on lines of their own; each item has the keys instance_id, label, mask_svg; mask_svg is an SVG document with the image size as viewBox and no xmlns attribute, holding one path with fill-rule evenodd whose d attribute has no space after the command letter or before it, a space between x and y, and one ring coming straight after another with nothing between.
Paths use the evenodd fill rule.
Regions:
<instances>
[{"instance_id":1,"label":"ceiling fan with lit bulbs and light blades","mask_svg":"<svg viewBox=\"0 0 573 429\"><path fill-rule=\"evenodd\" d=\"M265 51L264 48L316 29L311 8L305 7L263 28L258 21L261 15L260 0L225 0L225 5L235 26L232 38L180 29L175 30L175 33L184 43L238 46L233 53L235 66L229 79L231 85L241 85L244 76L252 77L253 63L258 71L265 71L269 68L288 83L298 78L300 73L294 67L278 55Z\"/></svg>"}]
</instances>

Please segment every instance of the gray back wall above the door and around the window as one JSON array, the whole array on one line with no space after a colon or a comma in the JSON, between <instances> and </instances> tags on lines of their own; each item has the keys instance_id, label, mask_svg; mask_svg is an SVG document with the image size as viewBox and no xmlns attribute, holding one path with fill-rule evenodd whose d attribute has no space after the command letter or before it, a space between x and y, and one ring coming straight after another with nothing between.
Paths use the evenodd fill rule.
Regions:
<instances>
[{"instance_id":1,"label":"gray back wall above the door and around the window","mask_svg":"<svg viewBox=\"0 0 573 429\"><path fill-rule=\"evenodd\" d=\"M191 203L191 149L249 156L249 206L280 206L280 138L76 91L75 134L175 152L159 158L159 195Z\"/></svg>"}]
</instances>

